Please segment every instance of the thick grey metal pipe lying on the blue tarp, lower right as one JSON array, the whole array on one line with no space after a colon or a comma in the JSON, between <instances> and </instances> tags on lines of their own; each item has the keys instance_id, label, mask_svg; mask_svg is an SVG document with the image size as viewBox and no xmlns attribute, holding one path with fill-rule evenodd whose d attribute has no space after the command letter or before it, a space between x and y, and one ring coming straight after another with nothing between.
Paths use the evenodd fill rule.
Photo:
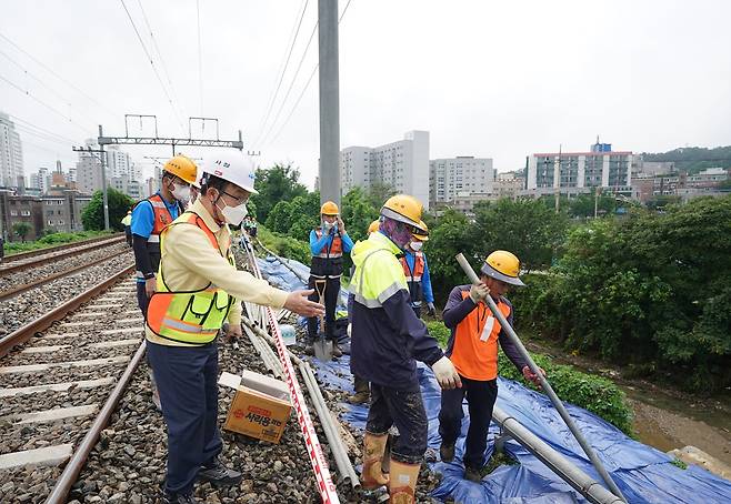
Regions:
<instances>
[{"instance_id":1,"label":"thick grey metal pipe lying on the blue tarp, lower right","mask_svg":"<svg viewBox=\"0 0 731 504\"><path fill-rule=\"evenodd\" d=\"M492 410L494 420L505 433L523 445L529 452L545 464L551 471L561 476L577 492L595 504L621 504L622 498L609 492L598 481L573 465L559 452L545 444L540 437L530 432L515 419L509 416L498 406Z\"/></svg>"}]
</instances>

